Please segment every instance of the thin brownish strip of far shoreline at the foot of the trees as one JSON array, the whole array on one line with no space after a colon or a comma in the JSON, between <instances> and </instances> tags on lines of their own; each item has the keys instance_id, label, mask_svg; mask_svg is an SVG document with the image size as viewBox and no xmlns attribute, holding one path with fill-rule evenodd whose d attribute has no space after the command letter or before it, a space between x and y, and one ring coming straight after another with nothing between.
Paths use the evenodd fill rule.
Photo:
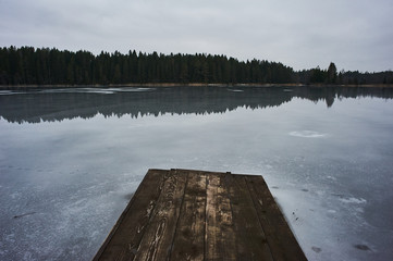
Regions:
<instances>
[{"instance_id":1,"label":"thin brownish strip of far shoreline at the foot of the trees","mask_svg":"<svg viewBox=\"0 0 393 261\"><path fill-rule=\"evenodd\" d=\"M393 84L377 85L328 85L328 84L177 84L177 83L145 83L145 84L108 84L108 85L0 85L0 89L45 89L45 88L120 88L120 87L357 87L357 88L393 88Z\"/></svg>"}]
</instances>

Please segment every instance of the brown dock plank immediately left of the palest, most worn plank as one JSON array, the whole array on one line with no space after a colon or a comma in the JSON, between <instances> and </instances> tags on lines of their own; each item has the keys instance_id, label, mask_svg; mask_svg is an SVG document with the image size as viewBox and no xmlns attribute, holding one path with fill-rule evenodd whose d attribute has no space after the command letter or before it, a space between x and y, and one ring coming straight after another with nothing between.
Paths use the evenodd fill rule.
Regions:
<instances>
[{"instance_id":1,"label":"brown dock plank immediately left of the palest, most worn plank","mask_svg":"<svg viewBox=\"0 0 393 261\"><path fill-rule=\"evenodd\" d=\"M188 175L171 260L204 260L206 220L206 174L184 171Z\"/></svg>"}]
</instances>

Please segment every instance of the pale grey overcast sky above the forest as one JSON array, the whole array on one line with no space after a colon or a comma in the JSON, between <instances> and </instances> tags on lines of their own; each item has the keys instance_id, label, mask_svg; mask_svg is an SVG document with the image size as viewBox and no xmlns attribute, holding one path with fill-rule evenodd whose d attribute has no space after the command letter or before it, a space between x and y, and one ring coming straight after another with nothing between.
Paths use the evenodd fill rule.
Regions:
<instances>
[{"instance_id":1,"label":"pale grey overcast sky above the forest","mask_svg":"<svg viewBox=\"0 0 393 261\"><path fill-rule=\"evenodd\" d=\"M0 45L393 70L393 0L0 0Z\"/></svg>"}]
</instances>

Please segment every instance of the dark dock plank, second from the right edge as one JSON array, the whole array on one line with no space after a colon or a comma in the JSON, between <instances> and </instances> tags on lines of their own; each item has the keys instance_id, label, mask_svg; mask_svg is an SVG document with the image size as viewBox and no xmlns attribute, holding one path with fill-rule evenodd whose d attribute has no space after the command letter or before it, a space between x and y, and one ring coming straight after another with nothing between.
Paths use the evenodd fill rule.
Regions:
<instances>
[{"instance_id":1,"label":"dark dock plank, second from the right edge","mask_svg":"<svg viewBox=\"0 0 393 261\"><path fill-rule=\"evenodd\" d=\"M236 234L237 260L272 261L266 235L259 223L259 217L250 197L245 176L226 175L233 223Z\"/></svg>"}]
</instances>

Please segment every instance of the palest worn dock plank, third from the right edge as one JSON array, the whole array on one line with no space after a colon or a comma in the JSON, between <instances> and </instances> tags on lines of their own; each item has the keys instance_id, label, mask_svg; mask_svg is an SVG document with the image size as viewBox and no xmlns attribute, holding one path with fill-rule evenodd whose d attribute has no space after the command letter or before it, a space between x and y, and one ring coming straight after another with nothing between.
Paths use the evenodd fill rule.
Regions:
<instances>
[{"instance_id":1,"label":"palest worn dock plank, third from the right edge","mask_svg":"<svg viewBox=\"0 0 393 261\"><path fill-rule=\"evenodd\" d=\"M232 209L224 174L208 173L205 260L236 260Z\"/></svg>"}]
</instances>

